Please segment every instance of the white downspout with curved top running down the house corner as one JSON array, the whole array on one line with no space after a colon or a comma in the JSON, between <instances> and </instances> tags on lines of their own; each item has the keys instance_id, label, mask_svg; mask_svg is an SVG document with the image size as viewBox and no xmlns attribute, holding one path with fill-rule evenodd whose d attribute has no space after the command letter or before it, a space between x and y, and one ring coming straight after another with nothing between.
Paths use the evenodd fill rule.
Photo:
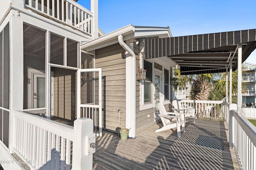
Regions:
<instances>
[{"instance_id":1,"label":"white downspout with curved top running down the house corner","mask_svg":"<svg viewBox=\"0 0 256 170\"><path fill-rule=\"evenodd\" d=\"M135 56L135 53L132 51L133 45L130 45L132 47L131 49L130 47L128 47L128 45L126 45L126 43L124 43L123 35L118 35L118 42L121 45L121 47L130 54L130 57L131 57L131 60L127 61L127 58L129 56L126 56L126 128L130 129L129 137L135 138L135 134L136 134L136 129L135 129L136 128L136 117L135 117L136 56Z\"/></svg>"}]
</instances>

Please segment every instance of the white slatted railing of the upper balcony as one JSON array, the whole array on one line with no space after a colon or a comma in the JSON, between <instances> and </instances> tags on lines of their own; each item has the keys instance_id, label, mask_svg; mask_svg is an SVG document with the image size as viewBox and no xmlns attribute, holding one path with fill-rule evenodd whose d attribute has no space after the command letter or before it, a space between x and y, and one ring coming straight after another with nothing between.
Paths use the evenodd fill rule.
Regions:
<instances>
[{"instance_id":1,"label":"white slatted railing of the upper balcony","mask_svg":"<svg viewBox=\"0 0 256 170\"><path fill-rule=\"evenodd\" d=\"M24 3L25 8L92 36L93 13L73 0L24 0Z\"/></svg>"}]
</instances>

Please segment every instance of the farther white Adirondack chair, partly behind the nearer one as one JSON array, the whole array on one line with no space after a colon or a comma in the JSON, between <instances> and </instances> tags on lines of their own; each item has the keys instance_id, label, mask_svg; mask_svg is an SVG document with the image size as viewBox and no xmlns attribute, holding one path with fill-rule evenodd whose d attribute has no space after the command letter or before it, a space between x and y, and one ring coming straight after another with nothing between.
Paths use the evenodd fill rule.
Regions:
<instances>
[{"instance_id":1,"label":"farther white Adirondack chair, partly behind the nearer one","mask_svg":"<svg viewBox=\"0 0 256 170\"><path fill-rule=\"evenodd\" d=\"M185 114L185 122L193 121L195 123L195 109L190 107L182 107L182 104L178 100L172 101L172 110L176 113L186 113ZM187 119L191 118L191 119Z\"/></svg>"}]
</instances>

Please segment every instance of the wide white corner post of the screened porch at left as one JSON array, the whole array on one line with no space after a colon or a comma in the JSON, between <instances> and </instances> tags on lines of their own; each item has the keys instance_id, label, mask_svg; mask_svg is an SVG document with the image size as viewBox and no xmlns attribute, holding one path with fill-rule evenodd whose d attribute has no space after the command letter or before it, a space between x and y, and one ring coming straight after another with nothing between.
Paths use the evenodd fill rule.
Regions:
<instances>
[{"instance_id":1,"label":"wide white corner post of the screened porch at left","mask_svg":"<svg viewBox=\"0 0 256 170\"><path fill-rule=\"evenodd\" d=\"M15 120L13 110L23 109L23 22L19 13L12 10L10 18L10 141L9 150L14 147ZM1 73L2 74L2 73Z\"/></svg>"}]
</instances>

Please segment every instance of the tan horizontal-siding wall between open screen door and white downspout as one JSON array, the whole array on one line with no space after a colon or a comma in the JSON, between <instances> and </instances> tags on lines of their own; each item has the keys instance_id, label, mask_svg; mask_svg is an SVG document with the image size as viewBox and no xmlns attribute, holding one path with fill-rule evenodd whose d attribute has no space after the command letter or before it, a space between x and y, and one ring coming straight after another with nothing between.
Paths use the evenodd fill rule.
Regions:
<instances>
[{"instance_id":1,"label":"tan horizontal-siding wall between open screen door and white downspout","mask_svg":"<svg viewBox=\"0 0 256 170\"><path fill-rule=\"evenodd\" d=\"M125 64L125 51L119 44L95 51L95 68L102 68L103 129L116 133L118 133L118 109L121 110L120 127L126 126Z\"/></svg>"}]
</instances>

